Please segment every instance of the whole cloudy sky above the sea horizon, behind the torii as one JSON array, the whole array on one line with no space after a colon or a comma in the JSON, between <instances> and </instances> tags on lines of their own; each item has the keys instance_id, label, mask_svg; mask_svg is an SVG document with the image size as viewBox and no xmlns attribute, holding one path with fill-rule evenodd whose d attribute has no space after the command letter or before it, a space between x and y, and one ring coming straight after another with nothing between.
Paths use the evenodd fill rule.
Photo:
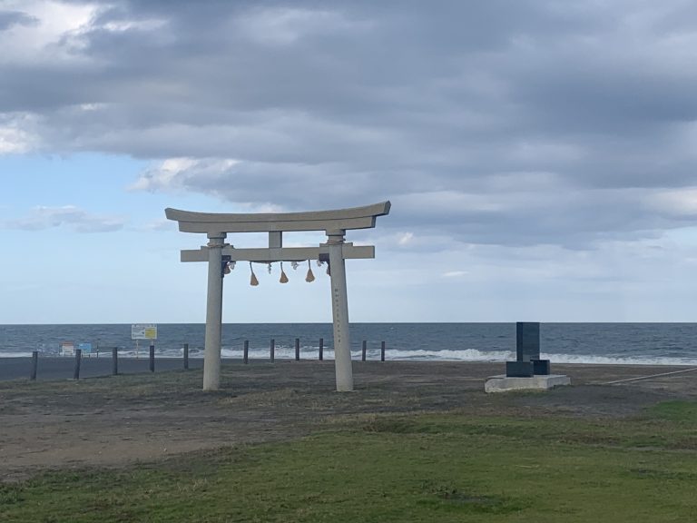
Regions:
<instances>
[{"instance_id":1,"label":"whole cloudy sky above the sea horizon, behind the torii","mask_svg":"<svg viewBox=\"0 0 697 523\"><path fill-rule=\"evenodd\" d=\"M204 321L165 207L383 200L352 321L697 321L695 49L692 0L0 0L0 323ZM314 269L224 321L330 321Z\"/></svg>"}]
</instances>

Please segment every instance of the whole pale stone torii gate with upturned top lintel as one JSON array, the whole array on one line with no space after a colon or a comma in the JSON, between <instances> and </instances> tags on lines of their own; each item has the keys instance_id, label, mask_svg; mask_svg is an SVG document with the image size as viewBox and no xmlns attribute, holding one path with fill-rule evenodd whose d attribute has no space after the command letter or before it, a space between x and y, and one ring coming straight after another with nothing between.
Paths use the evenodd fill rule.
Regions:
<instances>
[{"instance_id":1,"label":"whole pale stone torii gate with upturned top lintel","mask_svg":"<svg viewBox=\"0 0 697 523\"><path fill-rule=\"evenodd\" d=\"M208 306L203 357L203 390L218 390L221 380L222 279L227 262L329 262L334 359L337 390L353 390L353 370L348 336L348 298L344 260L375 258L375 247L345 242L351 229L371 229L376 218L389 213L390 202L365 207L319 212L270 212L229 214L165 209L169 220L182 232L208 235L208 244L182 251L182 262L208 262ZM283 232L324 231L327 242L319 247L283 247ZM236 249L225 243L229 232L269 232L269 247Z\"/></svg>"}]
</instances>

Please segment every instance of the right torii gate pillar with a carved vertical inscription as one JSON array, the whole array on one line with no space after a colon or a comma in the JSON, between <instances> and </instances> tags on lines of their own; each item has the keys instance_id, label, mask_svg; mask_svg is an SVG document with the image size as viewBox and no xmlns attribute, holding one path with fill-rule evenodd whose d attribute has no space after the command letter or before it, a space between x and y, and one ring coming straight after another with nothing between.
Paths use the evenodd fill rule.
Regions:
<instances>
[{"instance_id":1,"label":"right torii gate pillar with a carved vertical inscription","mask_svg":"<svg viewBox=\"0 0 697 523\"><path fill-rule=\"evenodd\" d=\"M343 253L345 234L346 231L343 229L327 232L329 276L331 277L331 311L334 320L334 369L337 373L337 391L339 392L353 390L346 265Z\"/></svg>"}]
</instances>

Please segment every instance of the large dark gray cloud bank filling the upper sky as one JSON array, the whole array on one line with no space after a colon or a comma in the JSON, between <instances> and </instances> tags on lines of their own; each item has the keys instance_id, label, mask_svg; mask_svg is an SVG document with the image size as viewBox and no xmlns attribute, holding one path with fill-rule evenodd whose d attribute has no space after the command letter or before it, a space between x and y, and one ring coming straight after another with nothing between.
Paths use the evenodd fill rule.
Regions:
<instances>
[{"instance_id":1,"label":"large dark gray cloud bank filling the upper sky","mask_svg":"<svg viewBox=\"0 0 697 523\"><path fill-rule=\"evenodd\" d=\"M693 222L695 44L681 1L122 1L64 59L0 64L0 112L152 159L142 190L586 249Z\"/></svg>"}]
</instances>

